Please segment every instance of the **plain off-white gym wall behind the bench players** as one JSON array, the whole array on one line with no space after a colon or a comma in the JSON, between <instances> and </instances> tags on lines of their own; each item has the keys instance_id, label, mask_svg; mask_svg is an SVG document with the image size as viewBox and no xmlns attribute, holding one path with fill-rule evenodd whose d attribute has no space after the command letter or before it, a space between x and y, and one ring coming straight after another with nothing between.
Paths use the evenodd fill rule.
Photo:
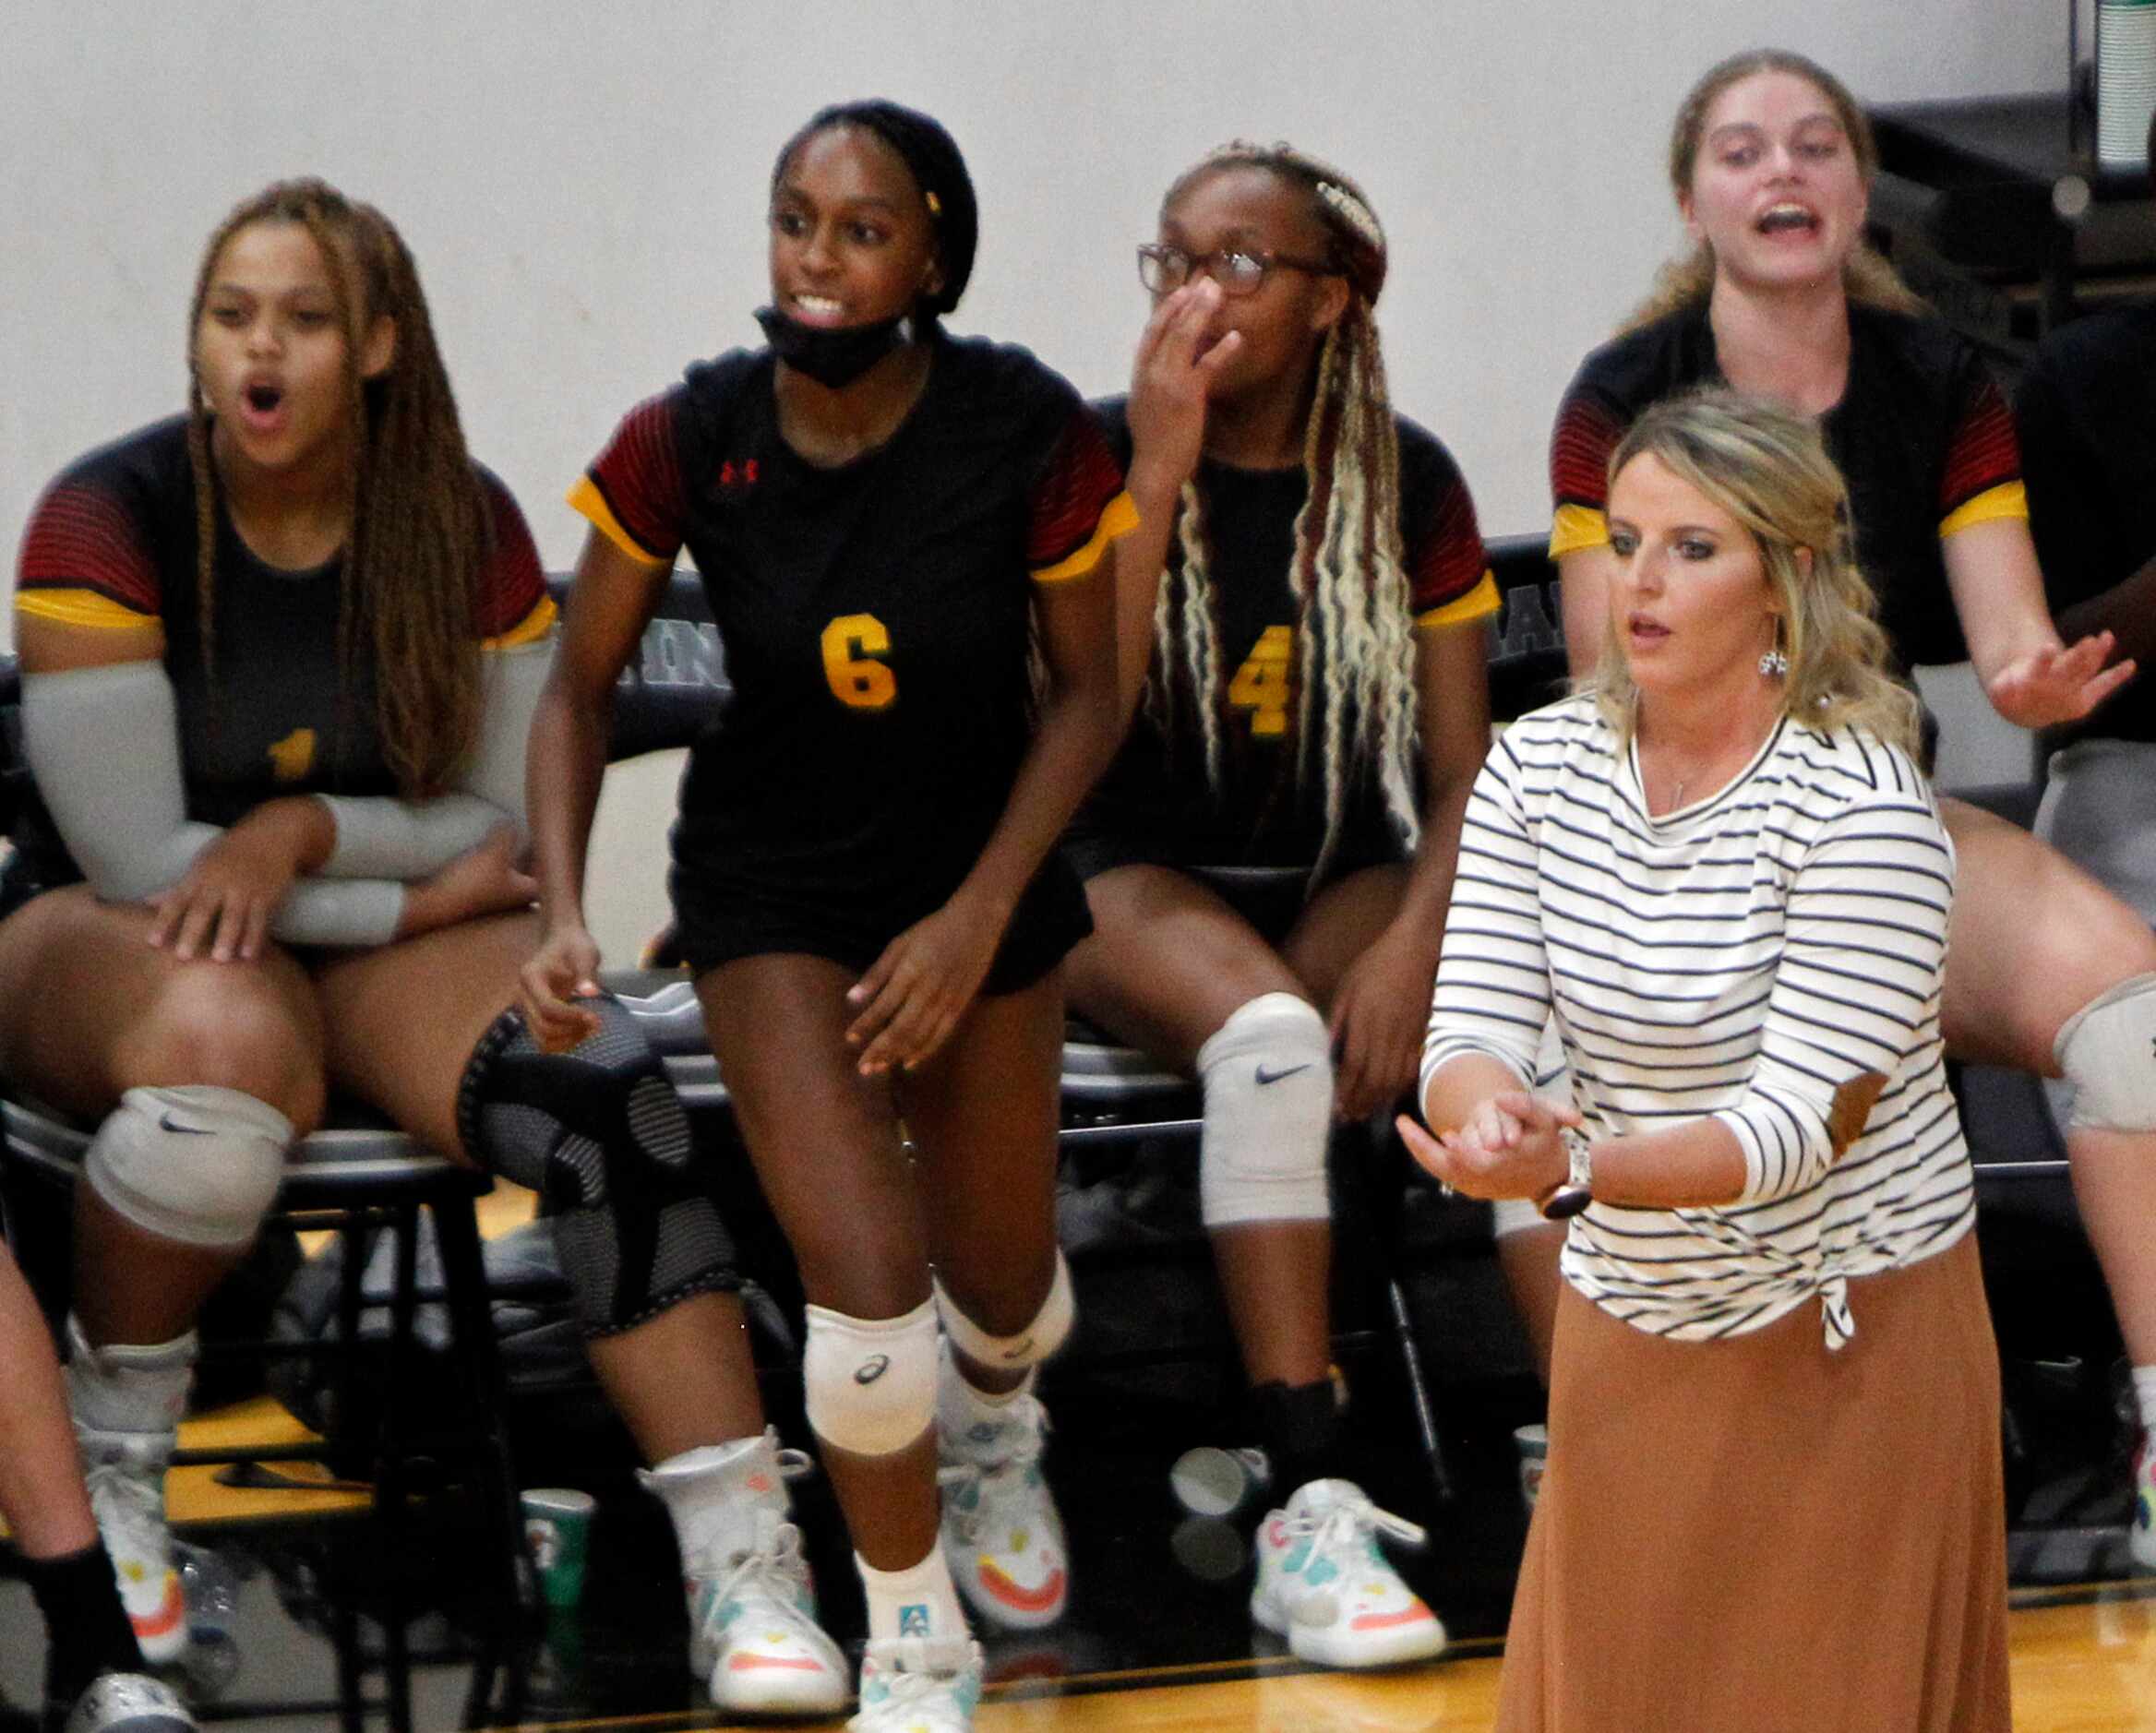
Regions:
<instances>
[{"instance_id":1,"label":"plain off-white gym wall behind the bench players","mask_svg":"<svg viewBox=\"0 0 2156 1733\"><path fill-rule=\"evenodd\" d=\"M1485 532L1546 522L1544 448L1578 358L1677 246L1662 144L1714 58L1781 43L1865 99L2057 88L2037 0L13 0L0 56L0 526L69 457L183 401L203 237L315 172L418 254L474 453L554 569L563 487L636 399L755 338L763 194L824 101L942 119L981 190L951 321L1119 388L1132 246L1205 147L1339 162L1393 237L1393 394L1436 429ZM593 916L627 961L662 907L668 767L617 772Z\"/></svg>"}]
</instances>

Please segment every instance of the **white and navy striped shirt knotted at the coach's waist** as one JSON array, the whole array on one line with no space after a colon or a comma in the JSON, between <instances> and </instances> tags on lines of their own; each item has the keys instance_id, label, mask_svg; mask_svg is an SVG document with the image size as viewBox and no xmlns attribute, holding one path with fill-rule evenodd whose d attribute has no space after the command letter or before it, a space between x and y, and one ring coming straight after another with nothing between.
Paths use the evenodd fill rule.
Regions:
<instances>
[{"instance_id":1,"label":"white and navy striped shirt knotted at the coach's waist","mask_svg":"<svg viewBox=\"0 0 2156 1733\"><path fill-rule=\"evenodd\" d=\"M1565 1278L1660 1336L1757 1330L1947 1250L1975 1220L1938 1032L1953 849L1910 759L1781 722L1720 793L1647 817L1639 759L1567 698L1490 750L1460 836L1423 1084L1492 1054L1522 1080L1554 1011L1589 1136L1712 1114L1744 1149L1714 1209L1591 1205ZM1835 1089L1880 1071L1835 1160Z\"/></svg>"}]
</instances>

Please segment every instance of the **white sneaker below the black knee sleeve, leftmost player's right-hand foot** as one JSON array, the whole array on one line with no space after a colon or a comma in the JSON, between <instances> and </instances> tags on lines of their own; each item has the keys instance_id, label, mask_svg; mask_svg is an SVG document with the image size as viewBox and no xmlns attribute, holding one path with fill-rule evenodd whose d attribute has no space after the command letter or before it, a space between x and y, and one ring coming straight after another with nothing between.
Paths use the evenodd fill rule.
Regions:
<instances>
[{"instance_id":1,"label":"white sneaker below the black knee sleeve, leftmost player's right-hand foot","mask_svg":"<svg viewBox=\"0 0 2156 1733\"><path fill-rule=\"evenodd\" d=\"M711 1576L690 1576L690 1666L711 1703L755 1716L828 1716L845 1707L845 1655L815 1621L802 1533L757 1511L757 1543Z\"/></svg>"}]
</instances>

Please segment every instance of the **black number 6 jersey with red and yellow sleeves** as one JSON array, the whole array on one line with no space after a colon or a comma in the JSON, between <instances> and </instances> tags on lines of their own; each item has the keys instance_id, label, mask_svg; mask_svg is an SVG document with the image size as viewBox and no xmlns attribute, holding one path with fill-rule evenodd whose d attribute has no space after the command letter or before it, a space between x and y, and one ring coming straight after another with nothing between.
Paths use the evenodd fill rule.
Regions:
<instances>
[{"instance_id":1,"label":"black number 6 jersey with red and yellow sleeves","mask_svg":"<svg viewBox=\"0 0 2156 1733\"><path fill-rule=\"evenodd\" d=\"M727 651L677 869L918 918L1024 757L1033 584L1091 573L1136 509L1078 392L1024 349L940 334L908 418L839 468L780 438L774 366L690 366L569 502L647 565L688 547Z\"/></svg>"}]
</instances>

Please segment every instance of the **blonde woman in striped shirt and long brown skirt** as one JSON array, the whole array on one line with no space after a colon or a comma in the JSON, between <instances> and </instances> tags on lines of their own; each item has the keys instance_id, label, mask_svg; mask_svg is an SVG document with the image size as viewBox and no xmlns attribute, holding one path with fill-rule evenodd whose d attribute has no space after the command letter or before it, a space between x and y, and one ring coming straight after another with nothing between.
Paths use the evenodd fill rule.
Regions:
<instances>
[{"instance_id":1,"label":"blonde woman in striped shirt and long brown skirt","mask_svg":"<svg viewBox=\"0 0 2156 1733\"><path fill-rule=\"evenodd\" d=\"M2007 1727L1915 703L1807 420L1671 399L1608 474L1602 666L1483 765L1436 1136L1401 1121L1447 1183L1572 1216L1498 1727ZM1552 1011L1570 1101L1526 1093Z\"/></svg>"}]
</instances>

